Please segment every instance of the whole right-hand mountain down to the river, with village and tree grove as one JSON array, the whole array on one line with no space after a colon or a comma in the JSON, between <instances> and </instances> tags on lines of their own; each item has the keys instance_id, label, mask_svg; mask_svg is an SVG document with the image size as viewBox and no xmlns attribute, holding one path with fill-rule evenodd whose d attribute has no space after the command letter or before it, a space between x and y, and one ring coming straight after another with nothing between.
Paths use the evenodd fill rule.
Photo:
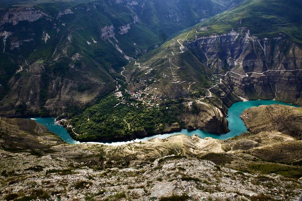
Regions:
<instances>
[{"instance_id":1,"label":"whole right-hand mountain down to the river, with village and tree grove","mask_svg":"<svg viewBox=\"0 0 302 201\"><path fill-rule=\"evenodd\" d=\"M273 6L268 8L270 5ZM282 10L293 5L291 13L295 17L284 15ZM120 91L134 93L131 96L139 101L131 103L133 97L124 92L122 101L102 100L69 121L79 134L74 137L88 140L163 133L171 131L172 122L164 120L167 116L180 124L179 128L226 133L227 108L240 97L300 105L302 52L297 33L301 6L299 1L244 1L130 60L119 77L127 87ZM123 103L140 108L129 109ZM142 115L142 123L138 123L136 110L151 115L156 104L162 107L160 114L164 117ZM184 107L187 104L192 107ZM96 112L104 111L104 105L113 111ZM134 118L115 114L123 114L122 111L130 112ZM92 121L88 122L89 117ZM116 118L116 123L110 120ZM154 122L150 123L150 119ZM111 126L104 127L107 124ZM116 132L119 127L121 130Z\"/></svg>"}]
</instances>

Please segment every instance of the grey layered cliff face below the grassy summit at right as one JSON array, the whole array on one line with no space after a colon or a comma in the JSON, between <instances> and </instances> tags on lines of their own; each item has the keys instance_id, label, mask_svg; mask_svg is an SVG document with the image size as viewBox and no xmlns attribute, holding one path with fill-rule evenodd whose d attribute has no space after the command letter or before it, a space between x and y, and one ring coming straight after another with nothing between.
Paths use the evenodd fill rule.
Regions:
<instances>
[{"instance_id":1,"label":"grey layered cliff face below the grassy summit at right","mask_svg":"<svg viewBox=\"0 0 302 201\"><path fill-rule=\"evenodd\" d=\"M199 37L186 45L213 74L221 74L219 77L232 83L235 94L300 104L302 49L293 42L281 37L259 39L242 28Z\"/></svg>"}]
</instances>

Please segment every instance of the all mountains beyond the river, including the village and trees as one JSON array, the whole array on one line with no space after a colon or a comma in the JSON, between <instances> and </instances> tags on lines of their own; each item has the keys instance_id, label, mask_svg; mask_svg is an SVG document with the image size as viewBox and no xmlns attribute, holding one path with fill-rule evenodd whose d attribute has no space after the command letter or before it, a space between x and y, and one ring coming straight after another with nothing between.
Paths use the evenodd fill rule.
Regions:
<instances>
[{"instance_id":1,"label":"all mountains beyond the river, including the village and trees","mask_svg":"<svg viewBox=\"0 0 302 201\"><path fill-rule=\"evenodd\" d=\"M301 6L286 0L7 3L2 113L68 118L79 140L180 128L226 133L227 108L240 97L300 105Z\"/></svg>"}]
</instances>

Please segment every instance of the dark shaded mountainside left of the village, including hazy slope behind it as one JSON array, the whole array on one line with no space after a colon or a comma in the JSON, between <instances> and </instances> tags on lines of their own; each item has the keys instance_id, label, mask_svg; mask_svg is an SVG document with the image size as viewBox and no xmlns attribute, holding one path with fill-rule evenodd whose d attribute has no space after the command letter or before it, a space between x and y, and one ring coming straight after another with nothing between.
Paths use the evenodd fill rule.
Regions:
<instances>
[{"instance_id":1,"label":"dark shaded mountainside left of the village, including hazy slope behind it","mask_svg":"<svg viewBox=\"0 0 302 201\"><path fill-rule=\"evenodd\" d=\"M239 2L7 1L0 107L7 115L19 105L55 115L91 103L116 88L127 61Z\"/></svg>"}]
</instances>

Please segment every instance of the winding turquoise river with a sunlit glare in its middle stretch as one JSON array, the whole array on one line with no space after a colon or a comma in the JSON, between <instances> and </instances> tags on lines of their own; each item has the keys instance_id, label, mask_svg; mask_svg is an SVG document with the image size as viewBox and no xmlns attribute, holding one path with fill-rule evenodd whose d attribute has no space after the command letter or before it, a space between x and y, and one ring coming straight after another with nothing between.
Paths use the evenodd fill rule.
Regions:
<instances>
[{"instance_id":1,"label":"winding turquoise river with a sunlit glare in its middle stretch","mask_svg":"<svg viewBox=\"0 0 302 201\"><path fill-rule=\"evenodd\" d=\"M254 100L254 101L247 101L247 102L236 102L234 103L228 111L228 118L226 118L229 121L229 129L230 132L226 134L218 134L218 133L209 133L204 130L186 130L182 129L179 132L173 132L173 133L165 133L165 134L159 134L154 135L150 137L144 137L142 139L136 139L135 142L141 142L146 141L149 139L152 139L154 137L158 137L160 139L165 139L167 137L170 137L172 135L177 134L186 134L188 136L192 136L194 134L200 136L201 138L205 137L213 137L220 140L225 140L231 137L234 137L235 135L240 135L243 132L246 132L246 126L244 125L243 121L239 117L241 113L247 109L254 106L259 105L272 105L272 104L281 104L281 105L291 105L295 107L299 107L297 105L292 105L284 102L279 102L275 100ZM54 118L47 117L47 118L31 118L36 120L39 124L45 125L51 132L56 133L59 137L61 137L65 142L71 143L71 144L79 144L79 141L74 140L69 133L66 131L66 129L63 126L58 126L54 124ZM106 144L106 145L121 145L121 144L127 144L131 143L133 141L124 141L124 142L109 142L109 143L100 143L100 142L87 142L87 143L98 143L98 144Z\"/></svg>"}]
</instances>

